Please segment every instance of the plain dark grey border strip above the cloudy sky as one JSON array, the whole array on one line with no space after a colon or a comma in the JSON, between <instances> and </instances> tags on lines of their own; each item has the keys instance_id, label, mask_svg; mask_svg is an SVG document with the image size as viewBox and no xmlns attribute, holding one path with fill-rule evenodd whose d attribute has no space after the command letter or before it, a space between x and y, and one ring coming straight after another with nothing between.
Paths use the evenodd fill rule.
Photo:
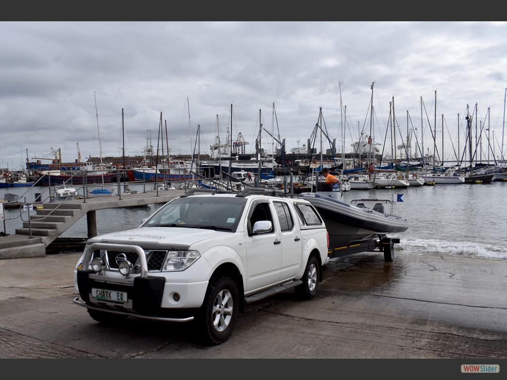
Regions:
<instances>
[{"instance_id":1,"label":"plain dark grey border strip above the cloudy sky","mask_svg":"<svg viewBox=\"0 0 507 380\"><path fill-rule=\"evenodd\" d=\"M495 9L497 11L495 11ZM218 2L20 0L4 2L1 21L505 21L498 2L461 0L443 6L407 2Z\"/></svg>"}]
</instances>

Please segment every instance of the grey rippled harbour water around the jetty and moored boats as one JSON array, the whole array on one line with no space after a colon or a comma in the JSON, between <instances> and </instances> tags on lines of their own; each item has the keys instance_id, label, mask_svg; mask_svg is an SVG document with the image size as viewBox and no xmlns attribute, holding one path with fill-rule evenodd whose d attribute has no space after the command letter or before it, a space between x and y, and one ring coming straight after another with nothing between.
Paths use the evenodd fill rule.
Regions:
<instances>
[{"instance_id":1,"label":"grey rippled harbour water around the jetty and moored boats","mask_svg":"<svg viewBox=\"0 0 507 380\"><path fill-rule=\"evenodd\" d=\"M28 192L24 187L0 188L0 199L4 199L6 193L27 192L26 202L34 202L41 190L44 187L36 186ZM507 182L351 190L342 193L340 199L349 202L368 198L395 200L393 214L410 223L406 232L389 235L400 238L395 254L434 253L507 260ZM135 228L161 206L97 210L97 232ZM0 225L0 231L7 234L14 234L22 226L21 217L27 220L26 212L21 213L19 209L5 209L4 214L5 223ZM86 236L86 216L61 235L62 238Z\"/></svg>"}]
</instances>

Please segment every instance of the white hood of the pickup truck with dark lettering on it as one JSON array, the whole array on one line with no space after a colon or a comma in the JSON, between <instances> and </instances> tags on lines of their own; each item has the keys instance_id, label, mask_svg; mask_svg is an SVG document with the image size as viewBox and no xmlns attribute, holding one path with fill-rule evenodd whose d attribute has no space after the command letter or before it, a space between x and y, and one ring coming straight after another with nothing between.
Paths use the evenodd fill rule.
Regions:
<instances>
[{"instance_id":1,"label":"white hood of the pickup truck with dark lettering on it","mask_svg":"<svg viewBox=\"0 0 507 380\"><path fill-rule=\"evenodd\" d=\"M131 244L150 249L188 249L197 242L230 236L230 232L188 227L141 227L88 240L92 243ZM176 243L177 242L177 243Z\"/></svg>"}]
</instances>

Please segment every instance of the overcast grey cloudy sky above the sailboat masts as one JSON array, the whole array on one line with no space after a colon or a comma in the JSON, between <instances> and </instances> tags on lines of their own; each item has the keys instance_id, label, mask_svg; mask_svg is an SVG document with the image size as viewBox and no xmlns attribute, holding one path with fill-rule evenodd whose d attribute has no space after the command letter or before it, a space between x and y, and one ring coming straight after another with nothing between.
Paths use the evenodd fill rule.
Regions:
<instances>
[{"instance_id":1,"label":"overcast grey cloudy sky above the sailboat masts","mask_svg":"<svg viewBox=\"0 0 507 380\"><path fill-rule=\"evenodd\" d=\"M482 157L488 133L496 156L503 135L505 155L507 22L2 21L0 158L19 169L27 150L31 160L60 148L74 162L79 145L85 161L100 155L99 131L103 157L120 157L123 146L142 155L150 137L162 148L161 113L164 151L167 125L172 156L197 141L210 154L231 127L231 104L232 135L242 134L246 153L255 153L260 123L287 153L307 144L319 107L323 128L349 152L361 131L370 134L372 83L377 142L394 100L397 144L414 128L432 154L436 128L446 159L460 156L468 105L479 129L490 127ZM262 136L261 147L277 147Z\"/></svg>"}]
</instances>

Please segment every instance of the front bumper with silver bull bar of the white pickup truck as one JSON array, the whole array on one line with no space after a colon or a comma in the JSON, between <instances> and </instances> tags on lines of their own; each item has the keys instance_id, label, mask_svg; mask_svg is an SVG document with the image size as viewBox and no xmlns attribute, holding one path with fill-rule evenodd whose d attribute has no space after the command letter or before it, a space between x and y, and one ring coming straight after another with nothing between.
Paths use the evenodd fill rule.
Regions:
<instances>
[{"instance_id":1,"label":"front bumper with silver bull bar of the white pickup truck","mask_svg":"<svg viewBox=\"0 0 507 380\"><path fill-rule=\"evenodd\" d=\"M125 278L118 271L93 272L89 262L95 249L136 252L140 273ZM102 243L92 244L85 249L83 261L78 268L80 269L75 271L75 285L80 297L74 300L77 305L107 313L163 321L192 320L206 293L208 281L205 279L211 275L210 265L205 259L198 259L185 271L149 272L146 255L139 246ZM128 300L117 302L94 298L92 289L126 293Z\"/></svg>"}]
</instances>

